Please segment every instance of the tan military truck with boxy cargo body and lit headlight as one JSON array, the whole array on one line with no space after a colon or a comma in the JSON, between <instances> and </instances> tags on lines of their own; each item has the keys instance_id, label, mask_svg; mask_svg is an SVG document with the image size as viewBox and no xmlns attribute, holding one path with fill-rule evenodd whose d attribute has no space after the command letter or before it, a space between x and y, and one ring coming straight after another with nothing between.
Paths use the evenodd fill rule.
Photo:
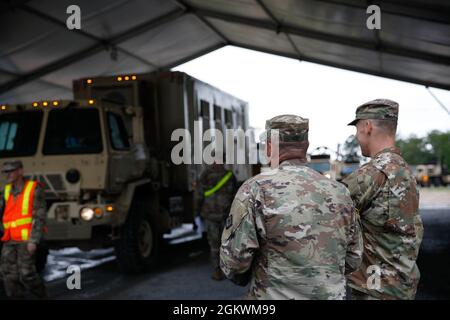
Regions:
<instances>
[{"instance_id":1,"label":"tan military truck with boxy cargo body and lit headlight","mask_svg":"<svg viewBox=\"0 0 450 320\"><path fill-rule=\"evenodd\" d=\"M197 212L202 165L172 163L172 132L193 133L196 121L200 132L247 130L248 105L180 72L80 79L73 93L2 107L0 165L20 159L42 182L49 248L114 246L120 270L145 270L162 235ZM250 165L232 169L238 181L251 176Z\"/></svg>"}]
</instances>

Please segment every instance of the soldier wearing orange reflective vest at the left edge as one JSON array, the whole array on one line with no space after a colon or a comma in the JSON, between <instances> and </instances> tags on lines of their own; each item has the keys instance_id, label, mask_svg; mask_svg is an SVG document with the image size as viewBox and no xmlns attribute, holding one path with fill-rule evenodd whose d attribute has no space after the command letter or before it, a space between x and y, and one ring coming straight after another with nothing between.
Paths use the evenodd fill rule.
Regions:
<instances>
[{"instance_id":1,"label":"soldier wearing orange reflective vest at the left edge","mask_svg":"<svg viewBox=\"0 0 450 320\"><path fill-rule=\"evenodd\" d=\"M8 184L10 186L8 198L13 201L19 201L19 196L24 192L27 181L23 178L23 165L21 161L5 162L2 172L6 173ZM31 233L27 235L24 241L17 241L11 237L12 228L24 227L18 221L6 222L6 188L3 190L0 200L0 212L2 212L3 227L3 246L1 252L1 272L5 291L8 297L20 299L25 297L25 290L39 298L47 297L44 282L36 270L35 259L36 250L41 240L46 223L46 204L44 192L39 184L34 189L33 201L31 206L32 222ZM23 206L23 204L22 204ZM22 219L23 220L23 219ZM20 221L20 219L19 219ZM11 225L12 224L12 225ZM23 231L23 230L22 230Z\"/></svg>"}]
</instances>

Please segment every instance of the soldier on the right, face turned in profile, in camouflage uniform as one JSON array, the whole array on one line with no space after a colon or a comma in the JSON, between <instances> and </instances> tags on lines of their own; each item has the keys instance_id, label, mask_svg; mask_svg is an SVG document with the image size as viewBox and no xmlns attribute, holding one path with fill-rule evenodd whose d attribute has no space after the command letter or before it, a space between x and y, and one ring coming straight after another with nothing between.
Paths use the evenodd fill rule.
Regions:
<instances>
[{"instance_id":1,"label":"soldier on the right, face turned in profile, in camouflage uniform","mask_svg":"<svg viewBox=\"0 0 450 320\"><path fill-rule=\"evenodd\" d=\"M378 99L356 110L362 154L371 161L344 179L359 212L364 255L348 276L354 299L414 299L423 238L416 180L395 147L398 104Z\"/></svg>"}]
</instances>

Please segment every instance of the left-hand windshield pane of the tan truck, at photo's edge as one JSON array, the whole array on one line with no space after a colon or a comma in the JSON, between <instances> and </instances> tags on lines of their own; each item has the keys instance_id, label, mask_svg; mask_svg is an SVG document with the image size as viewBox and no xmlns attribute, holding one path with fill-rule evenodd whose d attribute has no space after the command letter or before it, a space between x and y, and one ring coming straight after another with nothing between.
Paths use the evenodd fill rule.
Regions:
<instances>
[{"instance_id":1,"label":"left-hand windshield pane of the tan truck, at photo's edge","mask_svg":"<svg viewBox=\"0 0 450 320\"><path fill-rule=\"evenodd\" d=\"M26 157L36 153L42 111L0 115L0 158Z\"/></svg>"}]
</instances>

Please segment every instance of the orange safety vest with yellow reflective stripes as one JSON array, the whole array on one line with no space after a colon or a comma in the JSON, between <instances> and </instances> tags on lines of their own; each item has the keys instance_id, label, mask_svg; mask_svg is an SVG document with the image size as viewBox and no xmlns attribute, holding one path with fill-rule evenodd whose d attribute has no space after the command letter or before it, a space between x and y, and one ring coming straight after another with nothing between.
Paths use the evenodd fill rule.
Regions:
<instances>
[{"instance_id":1,"label":"orange safety vest with yellow reflective stripes","mask_svg":"<svg viewBox=\"0 0 450 320\"><path fill-rule=\"evenodd\" d=\"M5 208L3 212L5 232L1 241L28 241L30 238L36 186L36 181L26 181L22 192L16 197L11 194L12 186L10 184L5 186Z\"/></svg>"}]
</instances>

